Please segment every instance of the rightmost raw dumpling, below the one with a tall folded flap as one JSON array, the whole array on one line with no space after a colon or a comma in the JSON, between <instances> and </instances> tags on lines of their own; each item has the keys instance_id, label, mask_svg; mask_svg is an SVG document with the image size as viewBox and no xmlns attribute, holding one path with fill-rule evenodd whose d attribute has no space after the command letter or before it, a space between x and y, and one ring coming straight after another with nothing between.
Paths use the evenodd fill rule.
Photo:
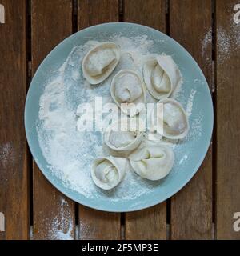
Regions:
<instances>
[{"instance_id":1,"label":"rightmost raw dumpling, below the one with a tall folded flap","mask_svg":"<svg viewBox=\"0 0 240 256\"><path fill-rule=\"evenodd\" d=\"M162 99L158 103L163 104L163 112L157 116L157 125L162 126L163 136L172 139L184 138L189 130L189 122L182 105L173 98Z\"/></svg>"}]
</instances>

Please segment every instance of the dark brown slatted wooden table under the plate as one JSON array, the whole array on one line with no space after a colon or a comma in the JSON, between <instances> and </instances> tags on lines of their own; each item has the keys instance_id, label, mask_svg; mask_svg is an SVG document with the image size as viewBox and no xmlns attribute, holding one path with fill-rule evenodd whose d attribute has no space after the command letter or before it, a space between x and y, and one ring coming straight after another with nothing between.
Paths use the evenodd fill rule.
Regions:
<instances>
[{"instance_id":1,"label":"dark brown slatted wooden table under the plate","mask_svg":"<svg viewBox=\"0 0 240 256\"><path fill-rule=\"evenodd\" d=\"M0 0L0 239L239 239L238 3ZM118 21L152 26L186 47L209 82L215 123L208 154L184 189L147 210L113 214L78 205L46 181L28 150L23 112L31 77L58 42L87 26Z\"/></svg>"}]
</instances>

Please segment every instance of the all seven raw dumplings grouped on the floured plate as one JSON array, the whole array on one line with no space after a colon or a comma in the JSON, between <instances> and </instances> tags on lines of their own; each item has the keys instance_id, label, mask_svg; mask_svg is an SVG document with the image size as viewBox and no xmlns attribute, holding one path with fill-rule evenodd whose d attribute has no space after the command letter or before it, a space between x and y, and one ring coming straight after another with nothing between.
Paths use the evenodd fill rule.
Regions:
<instances>
[{"instance_id":1,"label":"all seven raw dumplings grouped on the floured plate","mask_svg":"<svg viewBox=\"0 0 240 256\"><path fill-rule=\"evenodd\" d=\"M103 82L118 66L120 57L121 50L114 42L99 43L83 58L82 74L92 85ZM142 76L134 70L120 70L114 75L110 94L127 118L113 122L104 133L104 142L115 156L97 158L93 162L91 177L102 190L118 186L126 174L127 161L136 174L152 181L170 173L174 166L174 151L170 147L162 146L160 140L159 145L141 146L144 131L139 128L122 131L122 126L127 127L131 118L145 107L148 90L163 104L162 136L170 139L186 137L189 130L186 112L179 102L169 98L181 79L178 67L167 55L148 59L143 65ZM139 105L138 110L128 112L132 103Z\"/></svg>"}]
</instances>

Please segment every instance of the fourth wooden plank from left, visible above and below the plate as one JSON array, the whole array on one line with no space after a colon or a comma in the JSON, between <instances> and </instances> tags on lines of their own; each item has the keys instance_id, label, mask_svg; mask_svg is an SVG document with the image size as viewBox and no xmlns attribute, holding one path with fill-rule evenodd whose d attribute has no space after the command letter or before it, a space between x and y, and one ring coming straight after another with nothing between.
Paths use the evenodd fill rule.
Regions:
<instances>
[{"instance_id":1,"label":"fourth wooden plank from left, visible above and below the plate","mask_svg":"<svg viewBox=\"0 0 240 256\"><path fill-rule=\"evenodd\" d=\"M165 32L165 1L126 0L124 21L152 26ZM166 239L166 202L126 213L126 239Z\"/></svg>"}]
</instances>

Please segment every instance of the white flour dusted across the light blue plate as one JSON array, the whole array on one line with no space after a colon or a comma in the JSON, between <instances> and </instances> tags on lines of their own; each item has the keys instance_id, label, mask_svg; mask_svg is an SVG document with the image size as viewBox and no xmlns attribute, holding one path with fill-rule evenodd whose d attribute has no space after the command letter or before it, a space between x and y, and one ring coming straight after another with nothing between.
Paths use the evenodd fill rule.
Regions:
<instances>
[{"instance_id":1,"label":"white flour dusted across the light blue plate","mask_svg":"<svg viewBox=\"0 0 240 256\"><path fill-rule=\"evenodd\" d=\"M97 43L92 41L84 46L75 46L66 62L46 83L40 98L38 141L42 154L49 164L48 167L66 187L86 198L107 198L116 202L150 193L153 183L142 179L130 170L123 182L114 190L106 192L94 186L90 177L90 167L94 158L105 154L102 149L102 134L89 131L78 132L76 109L79 103L94 102L96 96L102 96L104 102L112 102L110 81L114 74L123 68L130 68L142 74L142 64L146 55L150 55L154 42L148 40L146 36L138 38L115 36L110 38L110 41L116 42L121 47L122 58L114 73L105 82L98 86L90 86L80 73L82 58ZM187 106L186 111L189 116L195 93L196 91L192 90L189 99L182 102L185 107ZM181 86L173 95L174 98L181 98ZM149 94L147 98L147 102L154 102ZM195 124L196 127L197 125ZM176 146L176 142L167 140L162 143L173 148ZM59 235L56 234L56 236Z\"/></svg>"}]
</instances>

